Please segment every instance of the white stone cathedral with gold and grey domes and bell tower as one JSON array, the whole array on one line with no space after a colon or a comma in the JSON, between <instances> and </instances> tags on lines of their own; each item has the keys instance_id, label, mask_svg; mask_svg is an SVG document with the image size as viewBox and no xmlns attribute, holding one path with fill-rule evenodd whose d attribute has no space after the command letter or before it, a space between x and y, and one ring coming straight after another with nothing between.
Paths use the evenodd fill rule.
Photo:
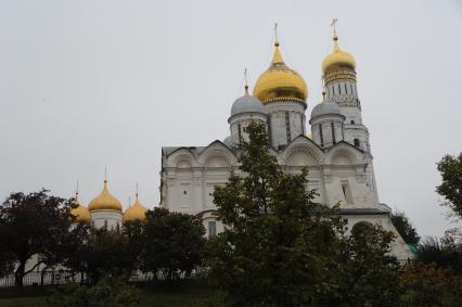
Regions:
<instances>
[{"instance_id":1,"label":"white stone cathedral with gold and grey domes and bell tower","mask_svg":"<svg viewBox=\"0 0 462 307\"><path fill-rule=\"evenodd\" d=\"M412 258L409 247L390 220L390 208L378 201L369 131L362 123L357 90L355 57L338 47L322 62L325 92L311 112L311 132L306 131L308 89L282 59L279 42L269 68L258 78L253 95L238 99L228 119L231 136L207 146L163 148L161 206L174 212L200 215L209 236L222 231L215 218L215 187L224 186L231 170L239 172L241 138L252 121L268 127L272 153L287 172L308 168L309 190L317 190L317 202L333 206L350 230L358 222L378 223L397 235L393 255Z\"/></svg>"}]
</instances>

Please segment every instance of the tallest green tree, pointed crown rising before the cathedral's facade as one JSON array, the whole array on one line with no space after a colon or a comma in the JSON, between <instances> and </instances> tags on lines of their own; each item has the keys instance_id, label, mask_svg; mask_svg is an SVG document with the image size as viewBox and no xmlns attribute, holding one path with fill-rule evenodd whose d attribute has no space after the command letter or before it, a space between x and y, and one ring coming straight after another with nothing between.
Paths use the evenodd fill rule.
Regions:
<instances>
[{"instance_id":1,"label":"tallest green tree, pointed crown rising before the cathedral's facade","mask_svg":"<svg viewBox=\"0 0 462 307\"><path fill-rule=\"evenodd\" d=\"M210 279L230 306L308 306L329 292L338 215L313 202L306 170L281 170L265 126L246 131L240 174L214 192L226 230L210 240Z\"/></svg>"}]
</instances>

